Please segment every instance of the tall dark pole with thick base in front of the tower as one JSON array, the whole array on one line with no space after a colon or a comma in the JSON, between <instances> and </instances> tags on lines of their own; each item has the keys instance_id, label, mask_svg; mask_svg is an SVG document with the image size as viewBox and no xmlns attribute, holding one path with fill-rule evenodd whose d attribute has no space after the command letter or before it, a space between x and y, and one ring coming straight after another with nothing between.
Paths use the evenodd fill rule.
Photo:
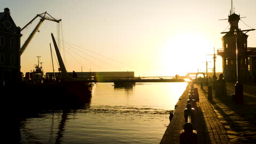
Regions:
<instances>
[{"instance_id":1,"label":"tall dark pole with thick base in front of the tower","mask_svg":"<svg viewBox=\"0 0 256 144\"><path fill-rule=\"evenodd\" d=\"M236 37L236 85L235 85L235 102L236 104L243 104L243 84L240 81L240 55L238 51L238 36L239 36L239 30L235 29L235 37Z\"/></svg>"}]
</instances>

